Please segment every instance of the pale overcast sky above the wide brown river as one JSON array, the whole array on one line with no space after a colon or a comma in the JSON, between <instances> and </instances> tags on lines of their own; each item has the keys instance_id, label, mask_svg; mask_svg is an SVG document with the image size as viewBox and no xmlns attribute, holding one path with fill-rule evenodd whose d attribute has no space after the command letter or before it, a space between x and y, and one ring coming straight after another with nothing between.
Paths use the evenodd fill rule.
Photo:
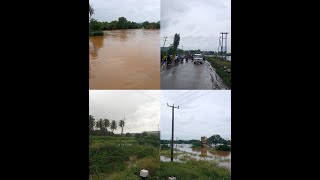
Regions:
<instances>
[{"instance_id":1,"label":"pale overcast sky above the wide brown river","mask_svg":"<svg viewBox=\"0 0 320 180\"><path fill-rule=\"evenodd\" d=\"M111 22L125 17L134 22L160 21L160 0L89 0L92 18Z\"/></svg>"}]
</instances>

